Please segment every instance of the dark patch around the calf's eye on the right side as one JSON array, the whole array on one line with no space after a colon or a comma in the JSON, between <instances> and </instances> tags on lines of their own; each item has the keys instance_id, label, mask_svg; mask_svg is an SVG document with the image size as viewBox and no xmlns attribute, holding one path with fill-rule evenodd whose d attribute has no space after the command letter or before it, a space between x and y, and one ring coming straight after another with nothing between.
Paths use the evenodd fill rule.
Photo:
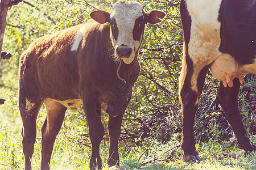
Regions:
<instances>
[{"instance_id":1,"label":"dark patch around the calf's eye on the right side","mask_svg":"<svg viewBox=\"0 0 256 170\"><path fill-rule=\"evenodd\" d=\"M141 41L142 34L144 33L144 27L144 18L143 16L139 16L139 18L137 18L134 23L133 40Z\"/></svg>"}]
</instances>

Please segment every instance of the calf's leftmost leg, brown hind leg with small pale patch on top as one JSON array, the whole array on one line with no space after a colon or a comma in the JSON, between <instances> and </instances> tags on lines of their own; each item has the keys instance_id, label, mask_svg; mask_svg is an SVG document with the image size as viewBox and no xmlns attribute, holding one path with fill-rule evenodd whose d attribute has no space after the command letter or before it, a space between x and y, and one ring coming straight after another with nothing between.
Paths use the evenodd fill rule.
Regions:
<instances>
[{"instance_id":1,"label":"calf's leftmost leg, brown hind leg with small pale patch on top","mask_svg":"<svg viewBox=\"0 0 256 170\"><path fill-rule=\"evenodd\" d=\"M34 153L34 144L36 138L36 118L42 100L26 95L19 94L19 111L22 117L22 148L25 159L25 169L31 169L31 159Z\"/></svg>"}]
</instances>

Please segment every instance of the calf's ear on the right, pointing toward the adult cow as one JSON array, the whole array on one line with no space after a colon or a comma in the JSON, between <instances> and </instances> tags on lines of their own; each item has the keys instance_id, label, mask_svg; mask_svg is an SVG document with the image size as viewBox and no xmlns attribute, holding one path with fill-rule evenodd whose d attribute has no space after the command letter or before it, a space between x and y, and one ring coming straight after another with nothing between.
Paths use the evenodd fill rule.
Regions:
<instances>
[{"instance_id":1,"label":"calf's ear on the right, pointing toward the adult cow","mask_svg":"<svg viewBox=\"0 0 256 170\"><path fill-rule=\"evenodd\" d=\"M150 10L146 14L147 14L147 23L152 25L162 22L162 19L164 18L164 16L166 16L166 13L159 10Z\"/></svg>"}]
</instances>

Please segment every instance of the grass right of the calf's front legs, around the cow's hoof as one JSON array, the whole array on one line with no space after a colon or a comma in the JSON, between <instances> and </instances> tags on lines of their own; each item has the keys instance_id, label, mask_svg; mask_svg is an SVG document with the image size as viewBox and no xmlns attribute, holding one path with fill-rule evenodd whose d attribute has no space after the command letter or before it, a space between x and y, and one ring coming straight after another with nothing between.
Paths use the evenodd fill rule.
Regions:
<instances>
[{"instance_id":1,"label":"grass right of the calf's front legs, around the cow's hoof","mask_svg":"<svg viewBox=\"0 0 256 170\"><path fill-rule=\"evenodd\" d=\"M255 143L254 139L254 143ZM166 159L166 153L169 148L171 148L172 143L166 145L154 146L151 148L151 153L148 155L144 154L141 159L141 163L138 163L138 157L142 155L142 152L139 152L141 149L137 148L136 151L133 151L129 154L130 159L126 160L123 169L256 169L256 153L251 153L249 155L245 154L245 151L237 148L236 146L230 146L228 142L216 143L210 141L208 143L202 143L197 147L197 151L201 156L201 163L185 163L181 159L181 150L175 152L171 158L171 162L163 161ZM146 164L142 166L143 163L148 162L148 160L158 160L151 164ZM131 167L130 165L133 165ZM137 165L137 167L136 167Z\"/></svg>"}]
</instances>

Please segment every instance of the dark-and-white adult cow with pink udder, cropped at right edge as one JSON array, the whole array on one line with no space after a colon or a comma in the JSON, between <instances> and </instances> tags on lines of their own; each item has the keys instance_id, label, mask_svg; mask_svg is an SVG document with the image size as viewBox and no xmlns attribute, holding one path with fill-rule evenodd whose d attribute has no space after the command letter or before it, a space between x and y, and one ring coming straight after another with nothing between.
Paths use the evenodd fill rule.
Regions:
<instances>
[{"instance_id":1,"label":"dark-and-white adult cow with pink udder, cropped at right edge","mask_svg":"<svg viewBox=\"0 0 256 170\"><path fill-rule=\"evenodd\" d=\"M255 151L242 124L237 99L243 76L256 73L256 1L181 0L180 15L184 36L179 82L184 159L200 161L193 122L208 69L221 80L217 100L239 145Z\"/></svg>"}]
</instances>

